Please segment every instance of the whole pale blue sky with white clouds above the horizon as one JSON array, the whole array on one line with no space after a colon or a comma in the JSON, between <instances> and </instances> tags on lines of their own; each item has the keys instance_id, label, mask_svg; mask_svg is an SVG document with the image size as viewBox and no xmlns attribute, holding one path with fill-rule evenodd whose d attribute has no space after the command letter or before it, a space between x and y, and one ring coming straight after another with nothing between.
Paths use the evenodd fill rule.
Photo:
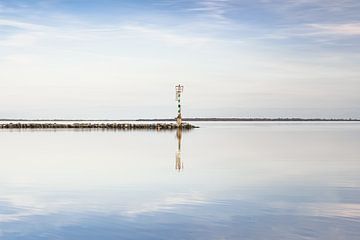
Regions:
<instances>
[{"instance_id":1,"label":"whole pale blue sky with white clouds above the horizon","mask_svg":"<svg viewBox=\"0 0 360 240\"><path fill-rule=\"evenodd\" d=\"M0 118L360 118L358 0L0 0Z\"/></svg>"}]
</instances>

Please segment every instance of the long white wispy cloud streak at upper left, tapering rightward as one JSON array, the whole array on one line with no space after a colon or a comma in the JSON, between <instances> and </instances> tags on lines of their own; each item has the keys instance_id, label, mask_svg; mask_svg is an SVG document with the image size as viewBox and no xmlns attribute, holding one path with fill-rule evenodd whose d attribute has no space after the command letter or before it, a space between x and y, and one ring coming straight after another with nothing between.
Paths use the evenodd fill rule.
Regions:
<instances>
[{"instance_id":1,"label":"long white wispy cloud streak at upper left, tapering rightward","mask_svg":"<svg viewBox=\"0 0 360 240\"><path fill-rule=\"evenodd\" d=\"M86 22L78 22L72 26L50 27L31 22L12 19L0 19L1 27L11 27L20 31L10 32L8 36L0 38L2 46L30 46L41 38L72 39L89 41L95 38L142 38L177 46L201 46L216 41L210 36L201 36L193 32L172 30L156 25L112 24L92 26Z\"/></svg>"}]
</instances>

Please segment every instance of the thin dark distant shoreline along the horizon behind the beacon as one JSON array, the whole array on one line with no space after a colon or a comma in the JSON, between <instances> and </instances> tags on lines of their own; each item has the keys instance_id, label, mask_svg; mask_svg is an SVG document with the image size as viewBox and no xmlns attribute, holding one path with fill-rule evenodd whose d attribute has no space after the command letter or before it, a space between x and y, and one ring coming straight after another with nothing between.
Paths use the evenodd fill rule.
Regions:
<instances>
[{"instance_id":1,"label":"thin dark distant shoreline along the horizon behind the beacon","mask_svg":"<svg viewBox=\"0 0 360 240\"><path fill-rule=\"evenodd\" d=\"M171 118L154 119L0 119L3 122L163 122L175 121ZM353 118L183 118L183 121L203 121L203 122L359 122L360 119Z\"/></svg>"}]
</instances>

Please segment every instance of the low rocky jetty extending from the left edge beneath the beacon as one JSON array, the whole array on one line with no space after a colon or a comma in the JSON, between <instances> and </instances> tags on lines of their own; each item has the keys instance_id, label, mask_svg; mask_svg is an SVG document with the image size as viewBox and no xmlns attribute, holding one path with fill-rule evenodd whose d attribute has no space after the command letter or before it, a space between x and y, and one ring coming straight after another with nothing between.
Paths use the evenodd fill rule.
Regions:
<instances>
[{"instance_id":1,"label":"low rocky jetty extending from the left edge beneath the beacon","mask_svg":"<svg viewBox=\"0 0 360 240\"><path fill-rule=\"evenodd\" d=\"M173 130L178 129L175 123L2 123L1 128L10 129L42 129L42 128L75 128L75 129L153 129L153 130ZM181 129L192 129L196 126L183 123Z\"/></svg>"}]
</instances>

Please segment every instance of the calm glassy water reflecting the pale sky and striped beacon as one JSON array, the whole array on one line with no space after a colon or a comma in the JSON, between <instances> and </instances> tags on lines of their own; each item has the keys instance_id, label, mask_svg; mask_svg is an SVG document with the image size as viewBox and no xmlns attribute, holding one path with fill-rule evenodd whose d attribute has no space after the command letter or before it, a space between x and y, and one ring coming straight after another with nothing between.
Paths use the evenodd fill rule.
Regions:
<instances>
[{"instance_id":1,"label":"calm glassy water reflecting the pale sky and striped beacon","mask_svg":"<svg viewBox=\"0 0 360 240\"><path fill-rule=\"evenodd\" d=\"M0 131L0 239L360 239L360 123Z\"/></svg>"}]
</instances>

